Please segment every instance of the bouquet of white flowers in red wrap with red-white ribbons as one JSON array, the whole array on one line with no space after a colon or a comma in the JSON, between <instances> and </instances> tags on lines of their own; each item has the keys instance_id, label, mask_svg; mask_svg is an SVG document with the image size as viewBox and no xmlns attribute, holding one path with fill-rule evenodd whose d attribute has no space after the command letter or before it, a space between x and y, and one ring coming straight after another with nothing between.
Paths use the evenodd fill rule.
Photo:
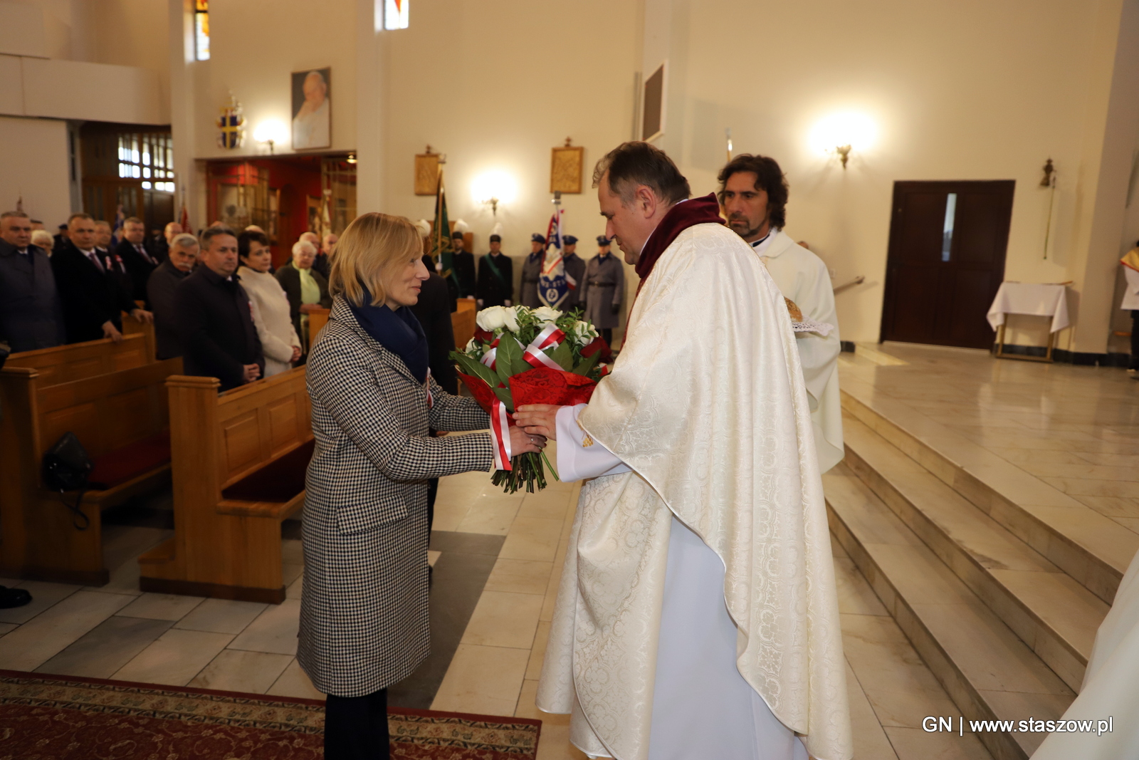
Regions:
<instances>
[{"instance_id":1,"label":"bouquet of white flowers in red wrap with red-white ribbons","mask_svg":"<svg viewBox=\"0 0 1139 760\"><path fill-rule=\"evenodd\" d=\"M598 365L605 342L597 328L576 314L540 307L490 307L475 318L475 337L451 358L459 377L491 416L494 475L508 493L546 488L544 453L511 456L509 427L514 410L527 403L585 403L607 371Z\"/></svg>"}]
</instances>

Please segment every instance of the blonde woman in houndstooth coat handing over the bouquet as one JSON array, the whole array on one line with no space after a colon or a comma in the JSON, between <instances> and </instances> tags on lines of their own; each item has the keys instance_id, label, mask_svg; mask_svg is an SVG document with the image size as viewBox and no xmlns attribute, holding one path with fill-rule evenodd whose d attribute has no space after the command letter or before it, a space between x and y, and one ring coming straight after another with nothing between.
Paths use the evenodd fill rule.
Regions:
<instances>
[{"instance_id":1,"label":"blonde woman in houndstooth coat handing over the bouquet","mask_svg":"<svg viewBox=\"0 0 1139 760\"><path fill-rule=\"evenodd\" d=\"M335 300L309 357L312 432L304 505L297 660L328 694L325 757L386 758L386 688L429 652L427 479L491 467L473 399L427 371L427 341L408 307L427 279L419 232L369 213L331 262ZM510 428L515 453L544 439Z\"/></svg>"}]
</instances>

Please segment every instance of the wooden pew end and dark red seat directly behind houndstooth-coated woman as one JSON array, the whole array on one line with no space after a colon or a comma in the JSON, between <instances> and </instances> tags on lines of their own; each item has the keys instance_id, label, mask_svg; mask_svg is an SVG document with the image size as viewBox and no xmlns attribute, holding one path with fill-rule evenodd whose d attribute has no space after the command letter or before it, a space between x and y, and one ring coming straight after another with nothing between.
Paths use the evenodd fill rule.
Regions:
<instances>
[{"instance_id":1,"label":"wooden pew end and dark red seat directly behind houndstooth-coated woman","mask_svg":"<svg viewBox=\"0 0 1139 760\"><path fill-rule=\"evenodd\" d=\"M314 443L304 367L219 385L166 381L174 537L139 557L140 588L280 604L280 523L304 504Z\"/></svg>"}]
</instances>

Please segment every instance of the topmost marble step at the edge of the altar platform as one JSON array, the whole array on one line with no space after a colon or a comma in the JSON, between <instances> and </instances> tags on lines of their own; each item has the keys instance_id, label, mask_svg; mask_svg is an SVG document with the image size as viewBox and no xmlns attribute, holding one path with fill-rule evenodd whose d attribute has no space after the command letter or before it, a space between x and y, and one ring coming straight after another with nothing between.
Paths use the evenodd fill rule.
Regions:
<instances>
[{"instance_id":1,"label":"topmost marble step at the edge of the altar platform","mask_svg":"<svg viewBox=\"0 0 1139 760\"><path fill-rule=\"evenodd\" d=\"M900 401L843 391L843 410L1100 599L1115 598L1139 536Z\"/></svg>"}]
</instances>

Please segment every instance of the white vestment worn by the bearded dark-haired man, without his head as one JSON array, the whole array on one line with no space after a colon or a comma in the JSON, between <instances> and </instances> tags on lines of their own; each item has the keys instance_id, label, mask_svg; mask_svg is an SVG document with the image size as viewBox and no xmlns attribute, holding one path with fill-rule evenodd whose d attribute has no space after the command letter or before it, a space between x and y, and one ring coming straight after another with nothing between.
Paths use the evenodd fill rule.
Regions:
<instances>
[{"instance_id":1,"label":"white vestment worn by the bearded dark-haired man, without his head","mask_svg":"<svg viewBox=\"0 0 1139 760\"><path fill-rule=\"evenodd\" d=\"M838 312L827 265L817 255L775 230L755 252L763 258L779 291L795 302L804 319L834 325L829 335L796 333L806 397L811 402L814 444L819 451L819 472L825 473L845 456L843 449L843 408L838 394Z\"/></svg>"}]
</instances>

